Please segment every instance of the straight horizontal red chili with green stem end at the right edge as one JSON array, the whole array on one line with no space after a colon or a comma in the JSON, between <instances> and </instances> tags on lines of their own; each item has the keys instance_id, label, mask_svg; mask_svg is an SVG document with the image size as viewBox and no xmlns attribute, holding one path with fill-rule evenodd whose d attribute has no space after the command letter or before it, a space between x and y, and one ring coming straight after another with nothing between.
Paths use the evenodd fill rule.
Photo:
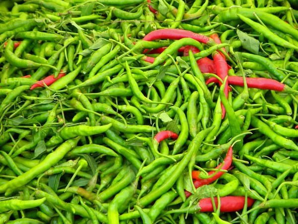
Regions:
<instances>
[{"instance_id":1,"label":"straight horizontal red chili with green stem end at the right edge","mask_svg":"<svg viewBox=\"0 0 298 224\"><path fill-rule=\"evenodd\" d=\"M266 79L266 78L249 78L246 77L246 83L248 88L256 88L261 90L274 90L279 92L288 92L289 87L283 83L280 83L279 81L276 81L274 79ZM219 83L220 81L212 77L206 81L206 85L210 83ZM230 85L236 85L236 86L244 86L243 84L243 78L240 76L228 76L227 82Z\"/></svg>"}]
</instances>

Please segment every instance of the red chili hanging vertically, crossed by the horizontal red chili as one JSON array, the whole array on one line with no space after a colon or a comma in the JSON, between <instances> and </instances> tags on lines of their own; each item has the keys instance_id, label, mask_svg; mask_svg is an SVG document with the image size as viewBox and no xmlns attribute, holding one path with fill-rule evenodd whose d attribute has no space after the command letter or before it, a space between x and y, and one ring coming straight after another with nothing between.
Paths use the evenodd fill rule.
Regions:
<instances>
[{"instance_id":1,"label":"red chili hanging vertically, crossed by the horizontal red chili","mask_svg":"<svg viewBox=\"0 0 298 224\"><path fill-rule=\"evenodd\" d=\"M227 76L228 73L228 67L227 67L227 63L224 60L223 56L221 54L219 54L218 52L215 52L213 54L213 59L215 62L215 66L216 66L216 71L217 71L217 75L224 80L225 77ZM220 83L220 86L222 86L222 83ZM224 95L227 98L228 95L228 81L225 83L225 87L224 87ZM224 115L225 115L225 109L224 109L224 105L222 104L222 119L224 119Z\"/></svg>"}]
</instances>

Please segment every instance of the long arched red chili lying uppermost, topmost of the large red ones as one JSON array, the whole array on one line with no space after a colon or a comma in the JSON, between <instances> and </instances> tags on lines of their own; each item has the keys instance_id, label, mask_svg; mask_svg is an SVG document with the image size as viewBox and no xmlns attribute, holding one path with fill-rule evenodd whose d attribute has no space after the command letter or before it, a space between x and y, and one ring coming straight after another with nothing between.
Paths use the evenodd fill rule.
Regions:
<instances>
[{"instance_id":1,"label":"long arched red chili lying uppermost, topmost of the large red ones","mask_svg":"<svg viewBox=\"0 0 298 224\"><path fill-rule=\"evenodd\" d=\"M214 43L214 40L208 36L194 33L192 31L183 29L157 29L148 33L143 40L151 41L156 39L170 39L170 40L180 40L182 38L189 37L193 38L201 43L210 44Z\"/></svg>"}]
</instances>

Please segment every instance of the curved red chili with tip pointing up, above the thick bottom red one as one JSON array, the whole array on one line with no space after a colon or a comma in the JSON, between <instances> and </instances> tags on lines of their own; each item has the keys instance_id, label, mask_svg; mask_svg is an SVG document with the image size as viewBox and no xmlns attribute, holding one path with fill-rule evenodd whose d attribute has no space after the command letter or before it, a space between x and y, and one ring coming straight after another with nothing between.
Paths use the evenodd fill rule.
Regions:
<instances>
[{"instance_id":1,"label":"curved red chili with tip pointing up, above the thick bottom red one","mask_svg":"<svg viewBox=\"0 0 298 224\"><path fill-rule=\"evenodd\" d=\"M221 168L222 170L227 170L230 167L230 165L232 164L232 159L233 159L233 149L230 146L229 149L227 150L226 156L224 158L224 165L222 166L222 164L220 164L219 166L216 167L216 169ZM210 171L210 172L208 172L208 175L210 176L214 173L215 173L215 171ZM216 181L217 179L219 179L224 174L224 172L218 172L215 176L213 176L211 178L208 178L208 179L200 179L199 178L199 174L200 174L199 171L192 171L191 174L192 174L192 178L196 179L196 180L194 180L195 187L199 188L203 185L208 185L208 184L212 183L213 181ZM190 192L188 192L188 191L184 191L184 192L185 192L186 198L191 196Z\"/></svg>"}]
</instances>

